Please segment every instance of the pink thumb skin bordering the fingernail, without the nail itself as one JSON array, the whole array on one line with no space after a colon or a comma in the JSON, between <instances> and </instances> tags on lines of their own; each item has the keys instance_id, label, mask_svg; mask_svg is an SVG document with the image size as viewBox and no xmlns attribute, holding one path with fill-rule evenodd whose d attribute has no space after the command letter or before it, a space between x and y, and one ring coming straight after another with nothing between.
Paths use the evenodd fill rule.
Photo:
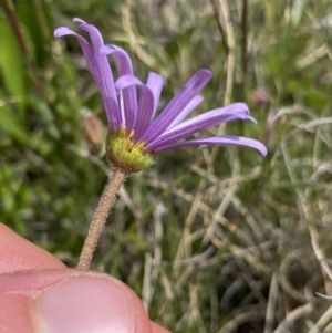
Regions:
<instances>
[{"instance_id":1,"label":"pink thumb skin bordering the fingernail, without the nail itself","mask_svg":"<svg viewBox=\"0 0 332 333\"><path fill-rule=\"evenodd\" d=\"M135 333L151 333L152 325L137 295L121 281L103 273L74 269L41 270L34 272L17 272L0 275L0 327L6 332L33 332L31 304L35 295L65 279L73 277L92 277L107 279L111 283L121 284L131 296L134 311ZM116 302L116 300L114 300ZM18 321L19 318L19 321ZM134 333L133 332L133 333ZM162 333L163 331L156 331ZM165 331L164 331L165 332ZM163 333L164 333L163 332ZM167 332L167 331L166 331Z\"/></svg>"}]
</instances>

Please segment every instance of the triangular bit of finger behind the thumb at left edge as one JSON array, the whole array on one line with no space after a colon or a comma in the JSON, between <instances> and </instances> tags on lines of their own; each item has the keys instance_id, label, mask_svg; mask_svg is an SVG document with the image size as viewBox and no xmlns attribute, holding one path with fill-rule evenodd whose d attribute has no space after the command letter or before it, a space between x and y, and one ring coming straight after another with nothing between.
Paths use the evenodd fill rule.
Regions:
<instances>
[{"instance_id":1,"label":"triangular bit of finger behind the thumb at left edge","mask_svg":"<svg viewBox=\"0 0 332 333\"><path fill-rule=\"evenodd\" d=\"M0 223L0 273L65 268L59 259Z\"/></svg>"}]
</instances>

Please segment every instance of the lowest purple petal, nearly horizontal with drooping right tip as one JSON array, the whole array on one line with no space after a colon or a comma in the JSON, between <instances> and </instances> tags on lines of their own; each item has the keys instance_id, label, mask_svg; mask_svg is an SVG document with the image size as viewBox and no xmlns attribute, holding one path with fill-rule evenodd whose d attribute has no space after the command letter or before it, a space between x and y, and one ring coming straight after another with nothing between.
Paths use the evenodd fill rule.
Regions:
<instances>
[{"instance_id":1,"label":"lowest purple petal, nearly horizontal with drooping right tip","mask_svg":"<svg viewBox=\"0 0 332 333\"><path fill-rule=\"evenodd\" d=\"M249 137L242 136L214 136L214 137L203 137L197 139L191 139L184 143L175 143L175 144L165 144L158 147L155 153L160 153L169 149L177 149L188 146L201 146L201 145L235 145L235 146L247 146L259 150L263 156L268 154L267 147Z\"/></svg>"}]
</instances>

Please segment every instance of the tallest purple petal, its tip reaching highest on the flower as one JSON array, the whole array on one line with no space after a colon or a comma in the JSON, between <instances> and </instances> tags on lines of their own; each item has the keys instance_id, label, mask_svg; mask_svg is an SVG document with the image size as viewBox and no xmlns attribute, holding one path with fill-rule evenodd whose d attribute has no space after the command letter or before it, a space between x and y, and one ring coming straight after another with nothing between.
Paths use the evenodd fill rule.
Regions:
<instances>
[{"instance_id":1,"label":"tallest purple petal, its tip reaching highest on the flower","mask_svg":"<svg viewBox=\"0 0 332 333\"><path fill-rule=\"evenodd\" d=\"M103 38L94 25L87 24L80 19L74 19L74 21L80 22L80 28L90 34L95 63L98 67L100 90L104 101L105 112L112 128L116 129L121 125L121 113L107 56L100 53L100 49L104 45Z\"/></svg>"}]
</instances>

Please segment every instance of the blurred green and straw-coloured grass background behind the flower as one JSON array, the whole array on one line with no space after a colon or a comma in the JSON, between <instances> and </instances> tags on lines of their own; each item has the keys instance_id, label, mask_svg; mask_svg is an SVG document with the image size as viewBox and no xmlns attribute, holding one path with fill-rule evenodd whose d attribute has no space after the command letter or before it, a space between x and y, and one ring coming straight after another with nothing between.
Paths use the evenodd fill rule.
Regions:
<instances>
[{"instance_id":1,"label":"blurred green and straw-coloured grass background behind the flower","mask_svg":"<svg viewBox=\"0 0 332 333\"><path fill-rule=\"evenodd\" d=\"M174 333L332 332L331 301L315 294L332 293L331 0L0 3L2 222L77 262L112 173L79 43L53 39L80 17L128 51L138 77L165 76L160 107L212 70L197 113L245 101L259 124L209 134L269 149L159 155L125 183L93 268L129 284Z\"/></svg>"}]
</instances>

